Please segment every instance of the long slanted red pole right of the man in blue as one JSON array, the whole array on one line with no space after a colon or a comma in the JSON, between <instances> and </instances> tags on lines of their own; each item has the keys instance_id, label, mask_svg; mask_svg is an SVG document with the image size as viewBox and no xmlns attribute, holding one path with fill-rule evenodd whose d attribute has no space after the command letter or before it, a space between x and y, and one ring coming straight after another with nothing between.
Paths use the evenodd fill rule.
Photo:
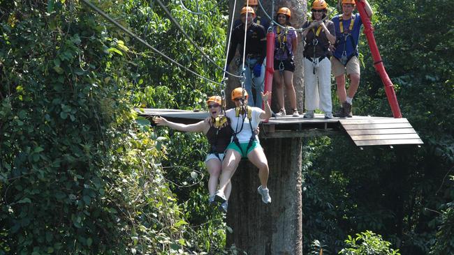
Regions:
<instances>
[{"instance_id":1,"label":"long slanted red pole right of the man in blue","mask_svg":"<svg viewBox=\"0 0 454 255\"><path fill-rule=\"evenodd\" d=\"M364 33L366 35L367 42L369 43L372 59L374 59L374 67L375 70L379 72L381 82L383 82L383 85L385 86L386 97L388 98L388 103L391 107L391 111L393 111L393 116L394 118L402 118L399 103L397 102L397 97L395 95L393 82L391 82L388 74L386 73L385 66L383 65L383 61L381 60L379 48L376 47L374 28L372 27L372 23L370 22L369 15L367 15L366 13L364 1L357 1L356 8L358 9L358 13L360 13L361 21L364 24Z\"/></svg>"}]
</instances>

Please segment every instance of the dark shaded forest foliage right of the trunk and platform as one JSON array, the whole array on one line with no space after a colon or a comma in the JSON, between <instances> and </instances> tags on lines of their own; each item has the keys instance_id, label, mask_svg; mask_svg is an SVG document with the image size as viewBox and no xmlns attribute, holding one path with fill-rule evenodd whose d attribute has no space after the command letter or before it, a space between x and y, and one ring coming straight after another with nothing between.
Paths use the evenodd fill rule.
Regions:
<instances>
[{"instance_id":1,"label":"dark shaded forest foliage right of the trunk and platform","mask_svg":"<svg viewBox=\"0 0 454 255\"><path fill-rule=\"evenodd\" d=\"M374 35L400 109L425 144L358 150L339 137L308 141L302 170L303 229L310 229L305 240L321 240L338 252L346 233L370 230L402 254L449 254L444 251L454 242L448 234L454 189L446 180L454 163L454 6L444 0L372 5ZM360 52L365 65L353 111L391 116L363 36ZM311 251L307 243L305 252Z\"/></svg>"}]
</instances>

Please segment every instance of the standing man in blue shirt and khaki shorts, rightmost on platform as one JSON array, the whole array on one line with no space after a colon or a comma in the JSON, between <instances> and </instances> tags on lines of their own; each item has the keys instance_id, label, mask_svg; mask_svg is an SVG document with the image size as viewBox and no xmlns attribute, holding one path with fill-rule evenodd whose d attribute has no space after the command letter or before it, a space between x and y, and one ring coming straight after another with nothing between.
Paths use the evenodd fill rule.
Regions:
<instances>
[{"instance_id":1,"label":"standing man in blue shirt and khaki shorts, rightmost on platform","mask_svg":"<svg viewBox=\"0 0 454 255\"><path fill-rule=\"evenodd\" d=\"M372 16L372 8L367 0L364 1L365 10L369 17ZM342 0L342 15L332 18L335 25L336 42L335 51L331 58L332 75L336 78L337 96L342 104L335 117L351 117L351 105L353 97L360 84L360 62L358 61L358 40L360 38L361 22L358 13L353 15L355 0ZM345 89L345 73L350 78L349 90Z\"/></svg>"}]
</instances>

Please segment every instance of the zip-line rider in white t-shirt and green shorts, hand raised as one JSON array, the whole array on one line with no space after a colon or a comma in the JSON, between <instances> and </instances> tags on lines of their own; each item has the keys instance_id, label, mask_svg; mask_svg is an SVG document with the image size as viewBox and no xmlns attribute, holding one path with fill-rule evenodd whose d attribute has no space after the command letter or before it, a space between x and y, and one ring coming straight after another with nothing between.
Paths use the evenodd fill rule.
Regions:
<instances>
[{"instance_id":1,"label":"zip-line rider in white t-shirt and green shorts, hand raised","mask_svg":"<svg viewBox=\"0 0 454 255\"><path fill-rule=\"evenodd\" d=\"M263 102L265 102L265 111L258 107L249 107L248 93L243 88L235 88L232 91L232 100L235 102L233 109L226 111L226 116L230 119L230 126L233 129L233 137L227 146L226 157L222 163L222 173L219 179L219 190L216 192L215 200L221 203L227 201L227 187L230 184L230 178L235 173L238 164L242 158L247 158L258 168L258 178L261 185L257 192L261 194L263 203L271 203L271 197L267 187L268 183L268 160L266 159L263 148L261 147L254 130L262 119L271 117L268 97L270 91L265 94L261 93Z\"/></svg>"}]
</instances>

